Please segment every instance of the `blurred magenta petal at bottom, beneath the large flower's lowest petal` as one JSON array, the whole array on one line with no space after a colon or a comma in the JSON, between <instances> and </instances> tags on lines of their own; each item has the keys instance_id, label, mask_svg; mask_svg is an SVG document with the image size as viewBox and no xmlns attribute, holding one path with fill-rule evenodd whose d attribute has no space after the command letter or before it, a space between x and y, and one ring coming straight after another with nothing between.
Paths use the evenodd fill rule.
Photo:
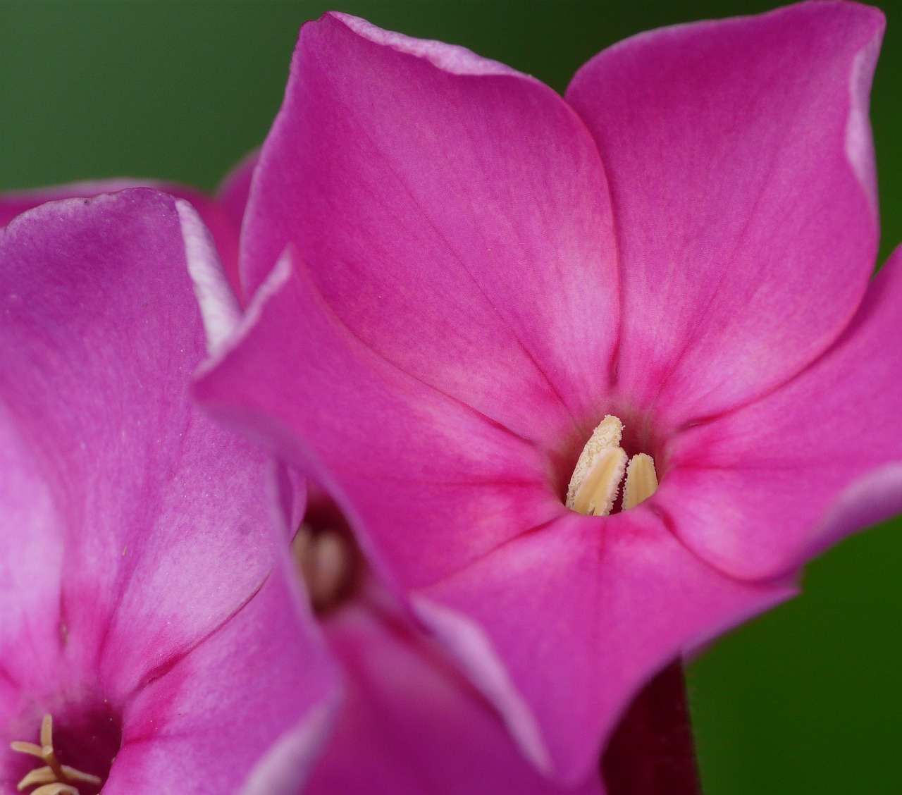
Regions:
<instances>
[{"instance_id":1,"label":"blurred magenta petal at bottom, beneath the large flower's lowest petal","mask_svg":"<svg viewBox=\"0 0 902 795\"><path fill-rule=\"evenodd\" d=\"M351 605L326 633L346 694L308 795L602 795L597 771L575 790L539 775L446 655L399 616Z\"/></svg>"}]
</instances>

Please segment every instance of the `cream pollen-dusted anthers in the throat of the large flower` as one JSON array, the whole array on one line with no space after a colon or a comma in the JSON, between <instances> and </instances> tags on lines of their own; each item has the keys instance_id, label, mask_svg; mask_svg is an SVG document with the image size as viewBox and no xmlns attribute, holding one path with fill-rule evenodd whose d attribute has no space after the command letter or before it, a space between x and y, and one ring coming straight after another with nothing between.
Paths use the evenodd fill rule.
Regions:
<instances>
[{"instance_id":1,"label":"cream pollen-dusted anthers in the throat of the large flower","mask_svg":"<svg viewBox=\"0 0 902 795\"><path fill-rule=\"evenodd\" d=\"M587 516L607 516L612 512L623 484L621 509L629 511L658 490L655 462L646 453L632 458L621 448L623 423L608 414L585 443L566 490L566 506ZM629 463L628 463L629 458Z\"/></svg>"}]
</instances>

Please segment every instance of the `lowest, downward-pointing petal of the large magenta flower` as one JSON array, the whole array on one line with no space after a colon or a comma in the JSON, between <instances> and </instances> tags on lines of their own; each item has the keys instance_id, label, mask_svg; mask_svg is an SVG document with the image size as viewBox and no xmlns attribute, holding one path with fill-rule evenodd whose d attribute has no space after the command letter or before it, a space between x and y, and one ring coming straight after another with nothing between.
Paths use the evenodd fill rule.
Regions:
<instances>
[{"instance_id":1,"label":"lowest, downward-pointing petal of the large magenta flower","mask_svg":"<svg viewBox=\"0 0 902 795\"><path fill-rule=\"evenodd\" d=\"M794 592L723 576L639 508L567 514L412 599L533 763L579 781L653 673Z\"/></svg>"}]
</instances>

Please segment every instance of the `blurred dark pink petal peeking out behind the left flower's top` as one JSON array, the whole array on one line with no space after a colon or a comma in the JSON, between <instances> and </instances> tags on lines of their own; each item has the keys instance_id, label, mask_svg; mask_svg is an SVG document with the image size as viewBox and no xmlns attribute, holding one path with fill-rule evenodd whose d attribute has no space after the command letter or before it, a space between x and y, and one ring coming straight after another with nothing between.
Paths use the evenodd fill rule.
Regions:
<instances>
[{"instance_id":1,"label":"blurred dark pink petal peeking out behind the left flower's top","mask_svg":"<svg viewBox=\"0 0 902 795\"><path fill-rule=\"evenodd\" d=\"M234 172L235 179L241 174L245 165L242 162ZM33 190L16 190L0 193L0 226L6 226L14 217L25 210L40 206L47 201L59 199L89 199L101 193L115 193L129 188L153 188L169 193L180 199L187 199L204 219L204 224L216 240L216 250L228 274L233 290L239 287L238 280L238 233L241 230L241 216L235 217L235 202L238 200L231 190L222 203L210 199L199 190L194 190L176 182L163 180L95 180L70 182L67 185L54 185L49 188ZM244 199L246 199L246 193ZM227 202L227 204L226 204Z\"/></svg>"}]
</instances>

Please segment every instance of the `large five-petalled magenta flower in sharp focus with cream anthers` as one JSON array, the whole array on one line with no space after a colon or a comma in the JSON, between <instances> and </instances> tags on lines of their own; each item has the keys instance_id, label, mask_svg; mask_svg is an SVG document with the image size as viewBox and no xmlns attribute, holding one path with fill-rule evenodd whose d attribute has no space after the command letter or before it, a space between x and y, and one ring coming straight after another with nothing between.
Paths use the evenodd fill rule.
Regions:
<instances>
[{"instance_id":1,"label":"large five-petalled magenta flower in sharp focus with cream anthers","mask_svg":"<svg viewBox=\"0 0 902 795\"><path fill-rule=\"evenodd\" d=\"M580 780L654 671L902 507L882 30L808 3L649 32L563 99L352 17L301 31L253 303L198 395L327 486L542 771Z\"/></svg>"}]
</instances>

